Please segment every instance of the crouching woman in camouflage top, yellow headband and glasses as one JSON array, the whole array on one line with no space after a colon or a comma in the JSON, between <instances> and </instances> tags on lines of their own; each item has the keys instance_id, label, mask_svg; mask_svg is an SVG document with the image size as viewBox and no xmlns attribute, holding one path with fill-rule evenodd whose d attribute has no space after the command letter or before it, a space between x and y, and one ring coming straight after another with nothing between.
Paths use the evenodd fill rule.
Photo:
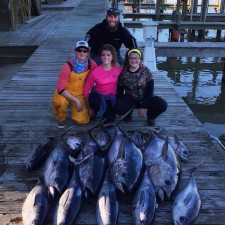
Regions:
<instances>
[{"instance_id":1,"label":"crouching woman in camouflage top, yellow headband and glasses","mask_svg":"<svg viewBox=\"0 0 225 225\"><path fill-rule=\"evenodd\" d=\"M131 108L138 108L138 117L144 117L147 109L147 123L155 124L155 118L167 109L167 103L154 96L154 79L148 67L142 64L143 53L133 48L126 52L124 68L117 85L116 113L123 115ZM125 118L131 121L132 112Z\"/></svg>"}]
</instances>

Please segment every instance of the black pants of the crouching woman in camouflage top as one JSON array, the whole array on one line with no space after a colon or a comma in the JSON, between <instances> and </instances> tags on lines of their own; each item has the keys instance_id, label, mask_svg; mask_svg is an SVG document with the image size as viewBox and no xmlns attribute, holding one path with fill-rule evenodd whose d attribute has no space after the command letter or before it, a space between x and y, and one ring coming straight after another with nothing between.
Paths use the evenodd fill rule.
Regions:
<instances>
[{"instance_id":1,"label":"black pants of the crouching woman in camouflage top","mask_svg":"<svg viewBox=\"0 0 225 225\"><path fill-rule=\"evenodd\" d=\"M153 96L148 98L145 102L143 102L142 105L140 105L140 102L135 100L131 95L125 94L119 98L116 103L116 114L124 115L132 107L147 109L148 119L155 119L166 111L167 102L159 96Z\"/></svg>"}]
</instances>

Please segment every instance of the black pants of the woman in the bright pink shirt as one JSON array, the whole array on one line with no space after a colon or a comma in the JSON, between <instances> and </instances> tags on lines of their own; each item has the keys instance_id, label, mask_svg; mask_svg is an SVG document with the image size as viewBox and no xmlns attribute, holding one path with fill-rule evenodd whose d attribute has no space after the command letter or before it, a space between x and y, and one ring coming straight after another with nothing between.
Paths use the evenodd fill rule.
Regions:
<instances>
[{"instance_id":1,"label":"black pants of the woman in the bright pink shirt","mask_svg":"<svg viewBox=\"0 0 225 225\"><path fill-rule=\"evenodd\" d=\"M97 92L91 92L88 98L90 107L94 110L95 115L97 115L101 106L101 96ZM110 100L106 100L107 109L103 114L103 118L106 118L105 123L111 123L115 120L115 106L112 105Z\"/></svg>"}]
</instances>

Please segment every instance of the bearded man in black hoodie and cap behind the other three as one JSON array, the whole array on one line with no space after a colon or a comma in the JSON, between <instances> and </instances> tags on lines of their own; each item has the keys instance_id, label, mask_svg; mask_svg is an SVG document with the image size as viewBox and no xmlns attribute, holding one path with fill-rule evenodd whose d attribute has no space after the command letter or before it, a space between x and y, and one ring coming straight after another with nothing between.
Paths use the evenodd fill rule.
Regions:
<instances>
[{"instance_id":1,"label":"bearded man in black hoodie and cap behind the other three","mask_svg":"<svg viewBox=\"0 0 225 225\"><path fill-rule=\"evenodd\" d=\"M91 48L91 58L99 65L100 59L98 51L103 44L111 44L117 51L117 62L123 64L123 57L120 55L122 44L126 48L137 48L136 39L122 26L120 22L120 12L117 8L107 10L106 18L99 24L91 28L85 40Z\"/></svg>"}]
</instances>

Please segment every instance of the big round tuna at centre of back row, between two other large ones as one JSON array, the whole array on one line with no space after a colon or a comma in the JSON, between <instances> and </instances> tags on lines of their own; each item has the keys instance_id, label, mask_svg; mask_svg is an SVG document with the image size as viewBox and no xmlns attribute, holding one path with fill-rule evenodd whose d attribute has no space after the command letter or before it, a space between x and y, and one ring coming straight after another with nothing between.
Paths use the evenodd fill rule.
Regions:
<instances>
[{"instance_id":1,"label":"big round tuna at centre of back row, between two other large ones","mask_svg":"<svg viewBox=\"0 0 225 225\"><path fill-rule=\"evenodd\" d=\"M120 191L124 192L124 187L132 191L143 172L143 155L133 140L115 126L116 135L109 150L110 176Z\"/></svg>"}]
</instances>

